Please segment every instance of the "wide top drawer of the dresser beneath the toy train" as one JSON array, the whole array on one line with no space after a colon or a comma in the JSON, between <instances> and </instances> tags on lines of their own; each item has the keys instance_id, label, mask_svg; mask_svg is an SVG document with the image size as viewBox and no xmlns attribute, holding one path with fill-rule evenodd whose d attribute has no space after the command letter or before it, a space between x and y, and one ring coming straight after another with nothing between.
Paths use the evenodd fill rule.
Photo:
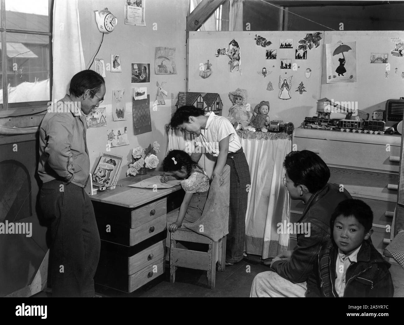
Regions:
<instances>
[{"instance_id":1,"label":"wide top drawer of the dresser beneath the toy train","mask_svg":"<svg viewBox=\"0 0 404 325\"><path fill-rule=\"evenodd\" d=\"M390 157L399 157L400 147L391 145L386 151L386 145L298 137L294 143L299 151L318 153L327 165L398 172L399 162Z\"/></svg>"}]
</instances>

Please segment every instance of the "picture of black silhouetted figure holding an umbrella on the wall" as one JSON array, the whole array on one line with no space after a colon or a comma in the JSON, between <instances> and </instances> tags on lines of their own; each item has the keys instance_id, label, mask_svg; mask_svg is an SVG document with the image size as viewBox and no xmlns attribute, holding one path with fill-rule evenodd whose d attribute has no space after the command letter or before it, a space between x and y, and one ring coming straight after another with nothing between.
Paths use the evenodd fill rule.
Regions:
<instances>
[{"instance_id":1,"label":"picture of black silhouetted figure holding an umbrella on the wall","mask_svg":"<svg viewBox=\"0 0 404 325\"><path fill-rule=\"evenodd\" d=\"M327 84L356 82L356 42L326 44Z\"/></svg>"}]
</instances>

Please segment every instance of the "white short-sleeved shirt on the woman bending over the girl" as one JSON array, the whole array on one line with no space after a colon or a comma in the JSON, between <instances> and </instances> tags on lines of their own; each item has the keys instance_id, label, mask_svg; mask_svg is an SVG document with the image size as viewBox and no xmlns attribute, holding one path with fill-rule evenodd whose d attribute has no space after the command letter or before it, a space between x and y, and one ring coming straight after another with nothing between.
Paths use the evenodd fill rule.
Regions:
<instances>
[{"instance_id":1,"label":"white short-sleeved shirt on the woman bending over the girl","mask_svg":"<svg viewBox=\"0 0 404 325\"><path fill-rule=\"evenodd\" d=\"M237 132L226 117L218 116L213 112L206 113L205 116L208 117L208 120L205 128L201 130L200 136L195 139L196 145L204 147L204 152L217 157L219 155L219 142L230 136L229 153L236 152L241 148Z\"/></svg>"}]
</instances>

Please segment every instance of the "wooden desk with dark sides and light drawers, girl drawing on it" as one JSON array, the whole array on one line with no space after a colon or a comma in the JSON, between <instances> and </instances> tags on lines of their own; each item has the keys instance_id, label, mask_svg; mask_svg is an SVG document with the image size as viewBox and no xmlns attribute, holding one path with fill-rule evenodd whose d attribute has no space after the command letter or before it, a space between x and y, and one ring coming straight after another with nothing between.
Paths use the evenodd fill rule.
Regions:
<instances>
[{"instance_id":1,"label":"wooden desk with dark sides and light drawers, girl drawing on it","mask_svg":"<svg viewBox=\"0 0 404 325\"><path fill-rule=\"evenodd\" d=\"M181 186L140 189L128 185L162 172L118 181L114 190L91 196L101 237L95 282L132 292L164 273L166 213L182 201Z\"/></svg>"}]
</instances>

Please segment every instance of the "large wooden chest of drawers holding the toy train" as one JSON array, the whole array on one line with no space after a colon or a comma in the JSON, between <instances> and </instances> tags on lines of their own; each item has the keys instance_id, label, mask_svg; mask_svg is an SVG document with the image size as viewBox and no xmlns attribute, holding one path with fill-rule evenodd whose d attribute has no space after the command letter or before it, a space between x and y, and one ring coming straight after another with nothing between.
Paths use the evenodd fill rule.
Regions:
<instances>
[{"instance_id":1,"label":"large wooden chest of drawers holding the toy train","mask_svg":"<svg viewBox=\"0 0 404 325\"><path fill-rule=\"evenodd\" d=\"M391 222L397 202L401 136L358 134L296 128L293 150L318 153L330 168L329 182L343 185L355 199L373 211L372 242L383 254L390 239ZM299 220L302 201L291 200L290 222ZM290 236L290 247L296 235Z\"/></svg>"}]
</instances>

